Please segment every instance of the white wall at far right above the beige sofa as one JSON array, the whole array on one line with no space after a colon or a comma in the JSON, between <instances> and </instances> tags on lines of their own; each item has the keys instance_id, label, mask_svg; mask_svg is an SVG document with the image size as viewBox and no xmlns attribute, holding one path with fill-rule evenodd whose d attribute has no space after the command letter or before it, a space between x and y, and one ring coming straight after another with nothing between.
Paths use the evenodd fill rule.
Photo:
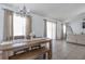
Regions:
<instances>
[{"instance_id":1,"label":"white wall at far right above the beige sofa","mask_svg":"<svg viewBox=\"0 0 85 64\"><path fill-rule=\"evenodd\" d=\"M82 27L82 23L85 22L83 21L83 18L85 18L85 14L80 14L69 22L69 25L72 27L73 34L85 34L85 29Z\"/></svg>"}]
</instances>

